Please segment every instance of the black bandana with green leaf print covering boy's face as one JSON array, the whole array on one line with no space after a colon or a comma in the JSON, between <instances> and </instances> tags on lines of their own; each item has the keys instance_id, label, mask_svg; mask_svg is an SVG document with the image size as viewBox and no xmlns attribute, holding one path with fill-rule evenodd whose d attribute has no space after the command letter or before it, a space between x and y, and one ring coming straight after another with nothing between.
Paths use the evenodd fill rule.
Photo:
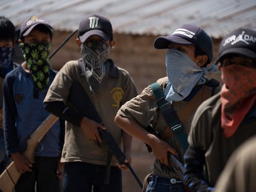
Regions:
<instances>
[{"instance_id":1,"label":"black bandana with green leaf print covering boy's face","mask_svg":"<svg viewBox=\"0 0 256 192\"><path fill-rule=\"evenodd\" d=\"M51 43L20 43L23 57L36 86L45 91L49 83L49 50Z\"/></svg>"}]
</instances>

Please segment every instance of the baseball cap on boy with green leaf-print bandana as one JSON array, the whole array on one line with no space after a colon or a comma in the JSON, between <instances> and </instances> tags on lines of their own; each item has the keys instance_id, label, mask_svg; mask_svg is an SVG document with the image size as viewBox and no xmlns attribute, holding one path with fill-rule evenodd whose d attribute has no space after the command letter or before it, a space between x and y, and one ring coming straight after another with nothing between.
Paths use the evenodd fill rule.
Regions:
<instances>
[{"instance_id":1,"label":"baseball cap on boy with green leaf-print bandana","mask_svg":"<svg viewBox=\"0 0 256 192\"><path fill-rule=\"evenodd\" d=\"M22 23L20 27L20 38L22 38L22 36L27 36L37 25L45 25L46 27L48 27L50 31L50 36L53 36L53 28L51 27L51 25L49 25L49 23L45 20L42 20L39 17L33 15Z\"/></svg>"}]
</instances>

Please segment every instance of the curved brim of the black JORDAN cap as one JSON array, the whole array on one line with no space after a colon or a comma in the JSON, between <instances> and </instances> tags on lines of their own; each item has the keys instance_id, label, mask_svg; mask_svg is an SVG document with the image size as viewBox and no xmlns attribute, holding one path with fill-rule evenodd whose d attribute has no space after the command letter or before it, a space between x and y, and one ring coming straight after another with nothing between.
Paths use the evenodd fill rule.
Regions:
<instances>
[{"instance_id":1,"label":"curved brim of the black JORDAN cap","mask_svg":"<svg viewBox=\"0 0 256 192\"><path fill-rule=\"evenodd\" d=\"M218 58L215 61L215 65L218 64L220 59L222 59L224 56L228 54L239 54L241 56L249 57L250 59L256 60L256 54L254 51L251 51L250 49L245 49L245 48L233 48L233 49L228 49L226 51L223 51L223 53L218 56Z\"/></svg>"}]
</instances>

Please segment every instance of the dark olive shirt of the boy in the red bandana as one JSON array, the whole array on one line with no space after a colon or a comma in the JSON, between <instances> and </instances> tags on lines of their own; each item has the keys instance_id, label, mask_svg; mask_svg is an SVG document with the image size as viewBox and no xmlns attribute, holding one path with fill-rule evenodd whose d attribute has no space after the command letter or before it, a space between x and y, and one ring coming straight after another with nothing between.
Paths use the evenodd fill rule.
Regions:
<instances>
[{"instance_id":1,"label":"dark olive shirt of the boy in the red bandana","mask_svg":"<svg viewBox=\"0 0 256 192\"><path fill-rule=\"evenodd\" d=\"M255 108L254 108L255 110ZM206 177L214 186L234 150L251 136L256 135L255 117L243 120L236 133L225 138L221 128L220 93L198 107L188 136L189 145L205 152ZM196 159L195 159L196 161ZM195 177L194 183L197 178Z\"/></svg>"}]
</instances>

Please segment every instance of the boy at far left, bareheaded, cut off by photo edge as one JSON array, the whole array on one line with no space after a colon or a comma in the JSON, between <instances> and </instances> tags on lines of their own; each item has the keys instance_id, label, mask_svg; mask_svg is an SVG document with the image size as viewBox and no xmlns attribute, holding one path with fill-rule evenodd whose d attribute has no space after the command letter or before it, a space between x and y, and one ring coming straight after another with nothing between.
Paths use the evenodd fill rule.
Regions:
<instances>
[{"instance_id":1,"label":"boy at far left, bareheaded, cut off by photo edge","mask_svg":"<svg viewBox=\"0 0 256 192\"><path fill-rule=\"evenodd\" d=\"M4 144L4 127L2 125L2 86L4 78L8 72L14 69L12 62L12 49L15 45L15 27L11 20L6 17L0 17L0 174L4 171L7 164L11 161L6 156Z\"/></svg>"}]
</instances>

